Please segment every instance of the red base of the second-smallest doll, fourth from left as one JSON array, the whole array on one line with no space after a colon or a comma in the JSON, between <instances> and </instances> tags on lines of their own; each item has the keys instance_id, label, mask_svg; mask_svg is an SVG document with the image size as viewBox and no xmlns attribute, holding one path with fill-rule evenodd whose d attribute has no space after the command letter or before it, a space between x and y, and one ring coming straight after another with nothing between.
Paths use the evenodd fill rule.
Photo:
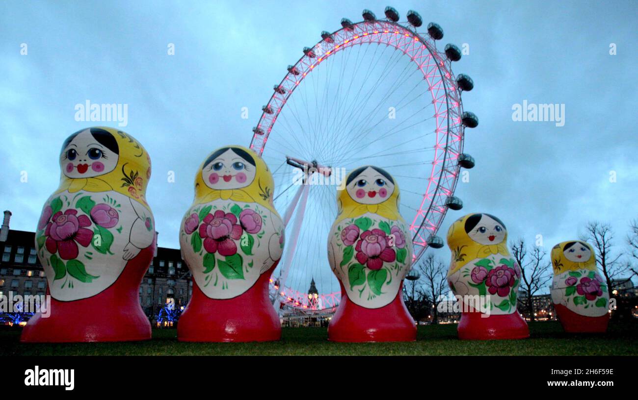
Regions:
<instances>
[{"instance_id":1,"label":"red base of the second-smallest doll, fourth from left","mask_svg":"<svg viewBox=\"0 0 638 400\"><path fill-rule=\"evenodd\" d=\"M459 322L459 339L493 340L524 339L530 337L530 329L518 311L507 315L490 315L482 318L480 312L463 312Z\"/></svg>"}]
</instances>

